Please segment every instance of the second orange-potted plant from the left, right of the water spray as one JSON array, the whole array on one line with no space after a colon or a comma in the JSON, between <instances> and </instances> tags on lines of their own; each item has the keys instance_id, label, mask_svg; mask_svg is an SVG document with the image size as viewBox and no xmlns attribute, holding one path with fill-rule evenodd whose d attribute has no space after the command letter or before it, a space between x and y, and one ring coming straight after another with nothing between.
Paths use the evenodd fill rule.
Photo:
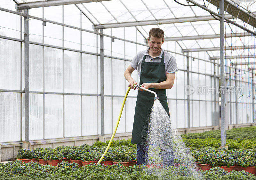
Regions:
<instances>
[{"instance_id":1,"label":"second orange-potted plant from the left, right of the water spray","mask_svg":"<svg viewBox=\"0 0 256 180\"><path fill-rule=\"evenodd\" d=\"M234 170L234 159L228 154L219 152L212 157L213 165L218 166L228 172Z\"/></svg>"}]
</instances>

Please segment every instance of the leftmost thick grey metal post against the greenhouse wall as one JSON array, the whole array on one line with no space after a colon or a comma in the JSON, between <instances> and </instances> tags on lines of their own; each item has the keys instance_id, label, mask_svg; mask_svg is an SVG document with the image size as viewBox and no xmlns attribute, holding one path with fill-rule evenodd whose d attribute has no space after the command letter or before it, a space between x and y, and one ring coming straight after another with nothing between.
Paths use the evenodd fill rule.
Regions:
<instances>
[{"instance_id":1,"label":"leftmost thick grey metal post against the greenhouse wall","mask_svg":"<svg viewBox=\"0 0 256 180\"><path fill-rule=\"evenodd\" d=\"M28 9L24 10L27 15L24 17L24 67L25 67L25 98L24 98L24 115L25 115L25 142L29 141L29 32L28 32Z\"/></svg>"}]
</instances>

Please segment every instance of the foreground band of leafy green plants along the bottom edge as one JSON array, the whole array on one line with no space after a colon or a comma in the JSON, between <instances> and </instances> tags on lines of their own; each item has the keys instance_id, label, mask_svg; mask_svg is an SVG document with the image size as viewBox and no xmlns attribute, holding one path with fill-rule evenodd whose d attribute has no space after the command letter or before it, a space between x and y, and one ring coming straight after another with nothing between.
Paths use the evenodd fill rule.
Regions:
<instances>
[{"instance_id":1,"label":"foreground band of leafy green plants along the bottom edge","mask_svg":"<svg viewBox=\"0 0 256 180\"><path fill-rule=\"evenodd\" d=\"M122 166L89 164L80 167L76 163L61 162L57 166L45 166L39 162L24 163L20 160L0 163L0 179L51 179L51 180L255 180L253 174L246 171L225 171L214 167L210 170L201 171L202 176L193 176L186 171L186 166L168 168L147 168L144 165Z\"/></svg>"}]
</instances>

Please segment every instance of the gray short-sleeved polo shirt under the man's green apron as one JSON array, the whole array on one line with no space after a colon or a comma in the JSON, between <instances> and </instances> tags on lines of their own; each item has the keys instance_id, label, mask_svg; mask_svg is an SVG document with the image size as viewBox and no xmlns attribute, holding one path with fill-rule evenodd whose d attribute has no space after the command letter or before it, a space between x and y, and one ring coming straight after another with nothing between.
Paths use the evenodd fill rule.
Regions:
<instances>
[{"instance_id":1,"label":"gray short-sleeved polo shirt under the man's green apron","mask_svg":"<svg viewBox=\"0 0 256 180\"><path fill-rule=\"evenodd\" d=\"M133 58L133 60L131 62L132 68L137 69L138 75L140 76L141 62L142 62L144 55L147 55L146 59L145 59L146 62L161 62L161 57L164 52L165 74L178 72L175 57L172 54L164 51L162 48L161 48L161 50L162 50L161 54L154 58L152 58L148 54L149 48L147 50L140 51L138 54L135 55L135 57Z\"/></svg>"}]
</instances>

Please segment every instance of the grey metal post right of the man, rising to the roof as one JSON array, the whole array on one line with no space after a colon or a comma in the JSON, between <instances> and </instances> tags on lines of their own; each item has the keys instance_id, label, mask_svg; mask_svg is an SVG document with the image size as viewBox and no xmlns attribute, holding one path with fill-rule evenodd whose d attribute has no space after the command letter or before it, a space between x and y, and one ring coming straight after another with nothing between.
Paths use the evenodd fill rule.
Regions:
<instances>
[{"instance_id":1,"label":"grey metal post right of the man, rising to the roof","mask_svg":"<svg viewBox=\"0 0 256 180\"><path fill-rule=\"evenodd\" d=\"M220 0L220 86L224 85L224 0ZM224 93L221 93L221 147L226 146L225 132L225 88Z\"/></svg>"}]
</instances>

